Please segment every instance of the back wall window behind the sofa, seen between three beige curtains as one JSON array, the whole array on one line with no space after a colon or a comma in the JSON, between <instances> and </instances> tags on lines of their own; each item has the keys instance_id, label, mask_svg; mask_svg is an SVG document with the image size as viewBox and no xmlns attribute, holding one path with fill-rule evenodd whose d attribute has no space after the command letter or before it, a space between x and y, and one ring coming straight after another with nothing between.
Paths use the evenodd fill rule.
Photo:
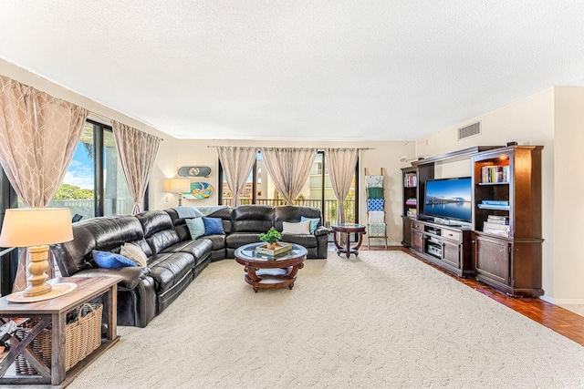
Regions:
<instances>
[{"instance_id":1,"label":"back wall window behind the sofa, seen between three beige curtains","mask_svg":"<svg viewBox=\"0 0 584 389\"><path fill-rule=\"evenodd\" d=\"M318 152L304 189L298 194L296 200L294 200L294 204L320 208L320 210L322 210L324 224L329 227L331 223L337 221L338 201L332 190L325 157L323 151ZM356 168L351 181L349 194L345 198L343 204L345 207L345 219L350 223L356 222L356 220L359 219L359 193L356 190L358 171L359 170ZM219 162L219 174L223 177L222 181L219 182L219 203L226 206L232 206L233 193L231 189L229 189L227 181L225 180L221 161ZM240 195L240 202L241 204L268 204L274 206L284 205L286 203L286 200L280 195L274 182L267 174L266 164L260 153L257 154L254 167L247 178L245 189Z\"/></svg>"}]
</instances>

